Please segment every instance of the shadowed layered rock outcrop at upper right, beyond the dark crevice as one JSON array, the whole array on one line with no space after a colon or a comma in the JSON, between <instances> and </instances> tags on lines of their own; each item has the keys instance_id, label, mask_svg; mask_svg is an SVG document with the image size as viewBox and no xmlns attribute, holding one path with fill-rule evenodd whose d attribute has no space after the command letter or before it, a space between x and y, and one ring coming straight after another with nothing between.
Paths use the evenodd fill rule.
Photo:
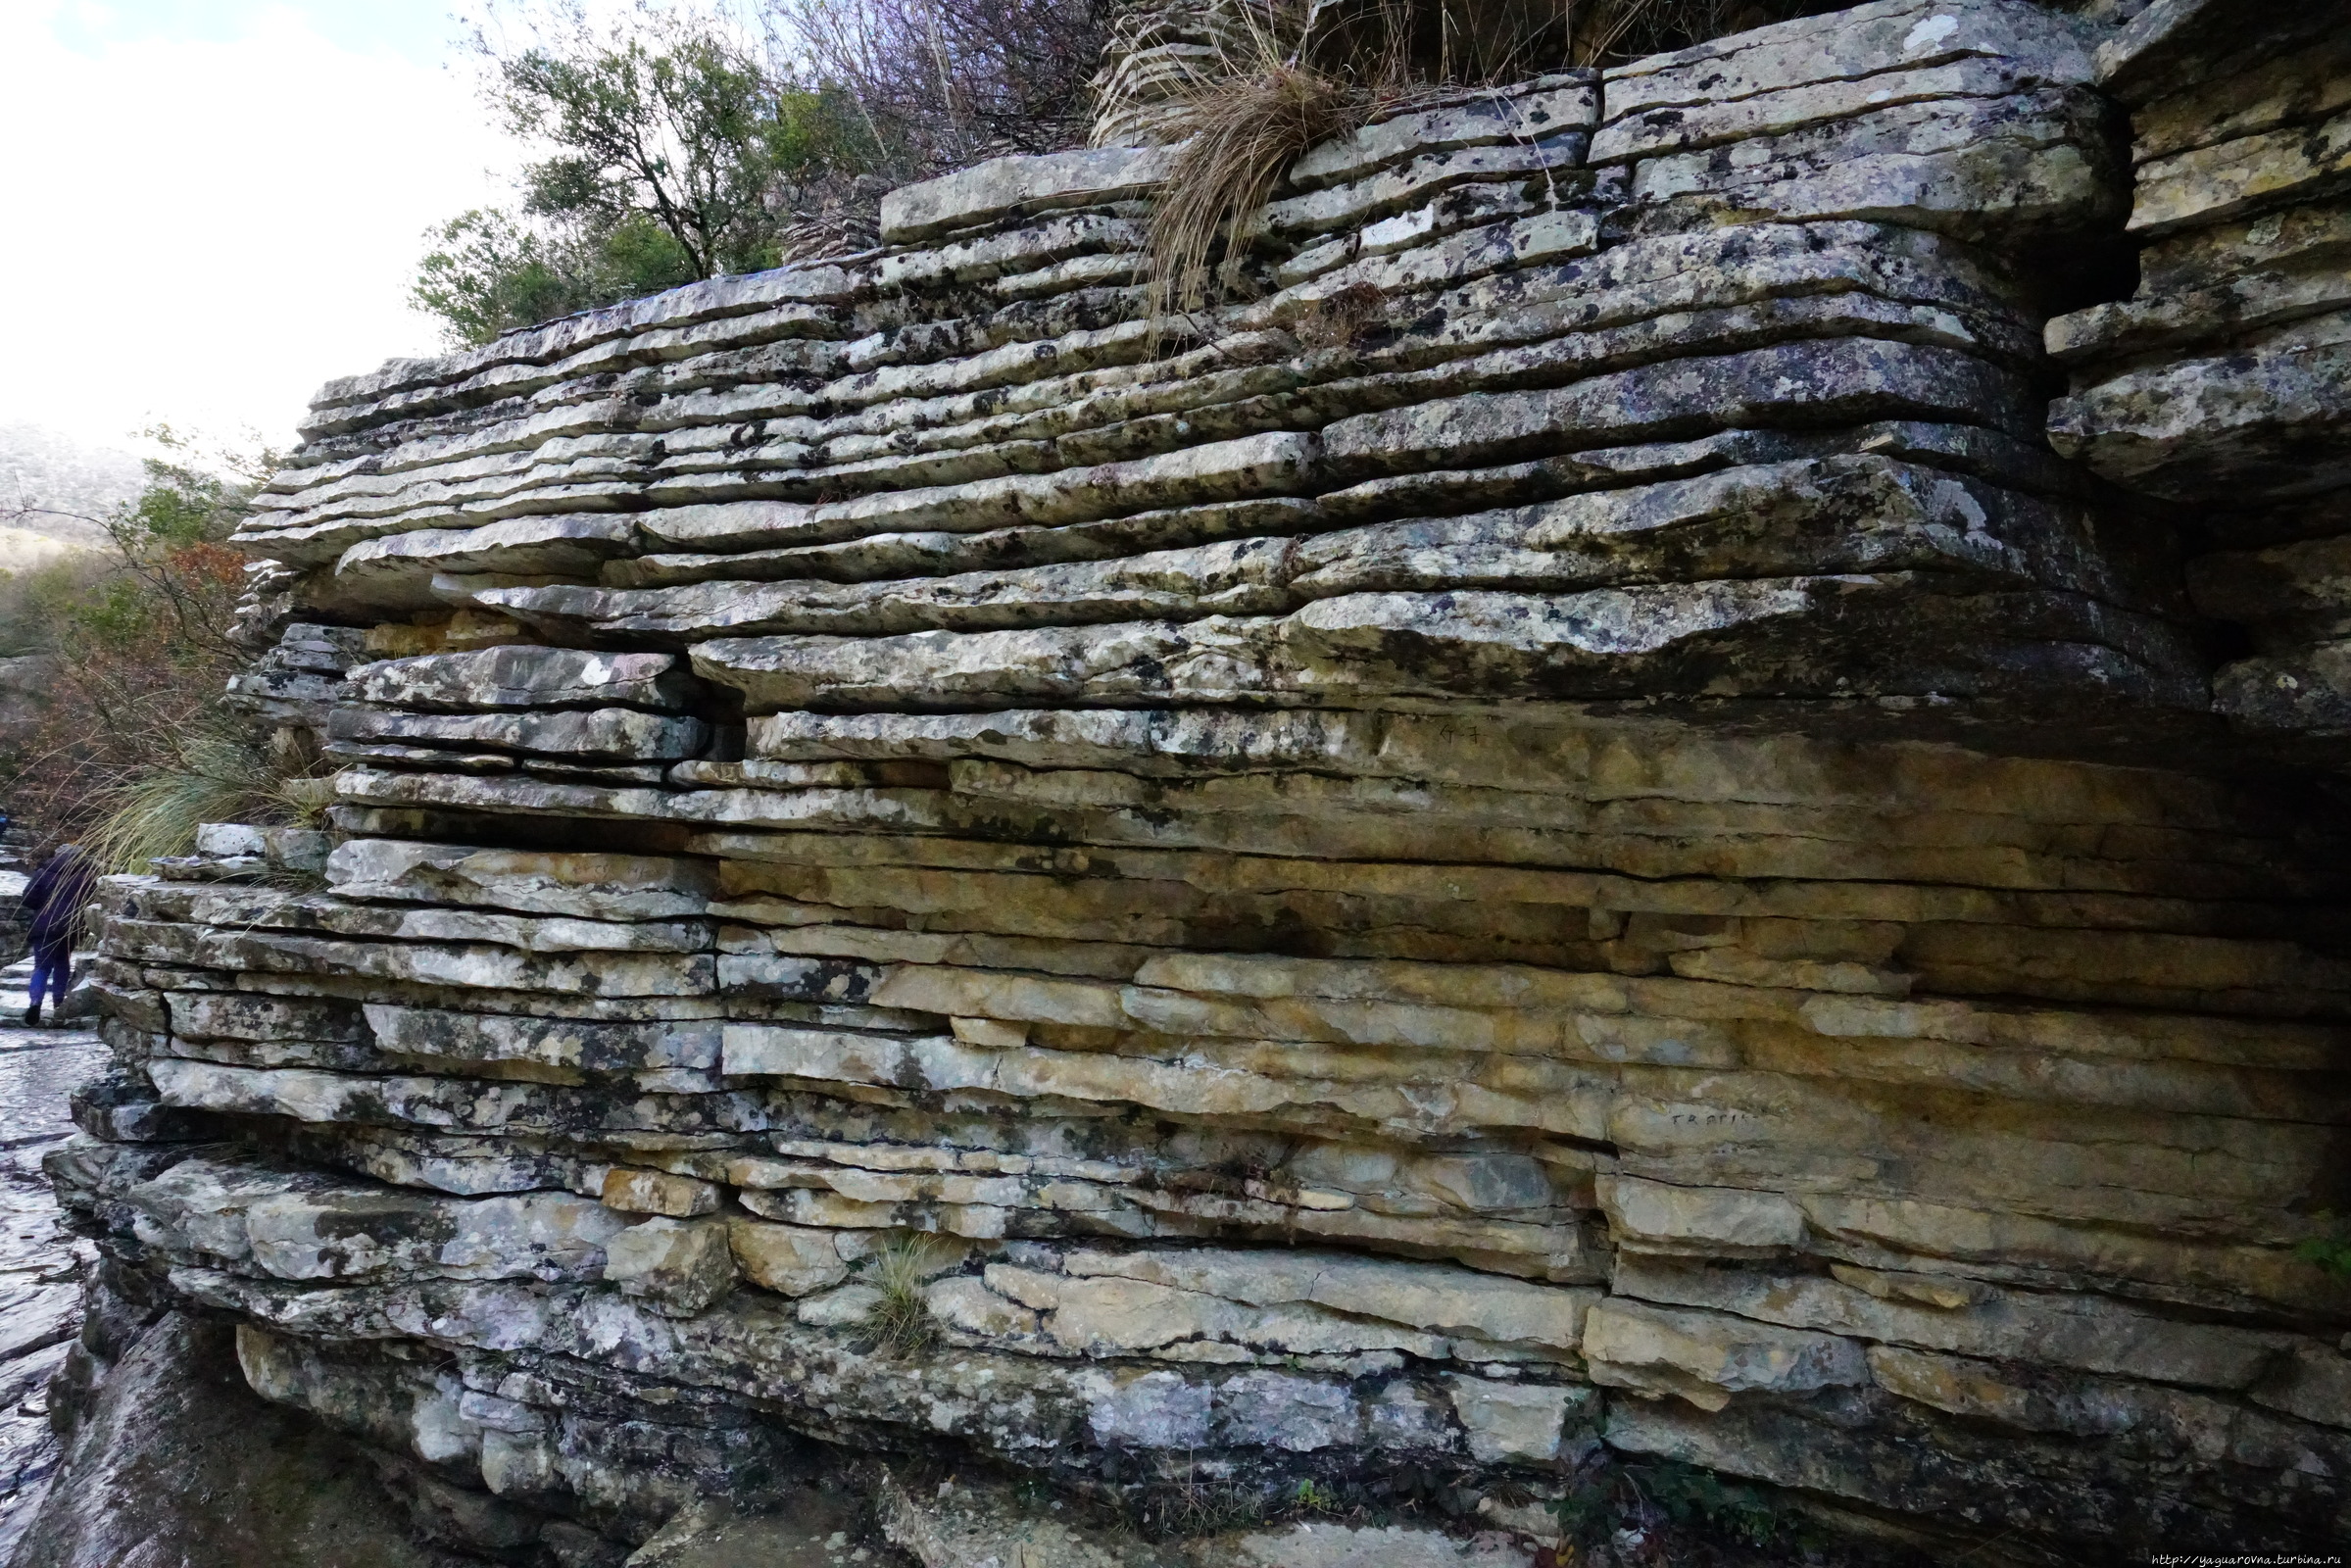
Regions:
<instances>
[{"instance_id":1,"label":"shadowed layered rock outcrop at upper right, beyond the dark crevice","mask_svg":"<svg viewBox=\"0 0 2351 1568\"><path fill-rule=\"evenodd\" d=\"M2102 45L2132 110L2135 299L2050 322L2059 451L2175 503L2212 679L2248 736L2351 741L2351 28L2335 7L2161 0Z\"/></svg>"}]
</instances>

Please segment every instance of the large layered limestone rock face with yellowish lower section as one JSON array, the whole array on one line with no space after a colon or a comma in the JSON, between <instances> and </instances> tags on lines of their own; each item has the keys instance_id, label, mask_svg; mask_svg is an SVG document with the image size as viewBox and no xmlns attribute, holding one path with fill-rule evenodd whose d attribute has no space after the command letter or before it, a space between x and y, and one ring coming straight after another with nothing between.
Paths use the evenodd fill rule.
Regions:
<instances>
[{"instance_id":1,"label":"large layered limestone rock face with yellowish lower section","mask_svg":"<svg viewBox=\"0 0 2351 1568\"><path fill-rule=\"evenodd\" d=\"M2339 646L2351 26L2130 9L1418 106L1157 327L1098 148L331 383L242 536L331 832L108 886L61 1194L517 1561L806 1439L1526 1533L1333 1563L1599 1453L2344 1540L2339 698L2245 670Z\"/></svg>"}]
</instances>

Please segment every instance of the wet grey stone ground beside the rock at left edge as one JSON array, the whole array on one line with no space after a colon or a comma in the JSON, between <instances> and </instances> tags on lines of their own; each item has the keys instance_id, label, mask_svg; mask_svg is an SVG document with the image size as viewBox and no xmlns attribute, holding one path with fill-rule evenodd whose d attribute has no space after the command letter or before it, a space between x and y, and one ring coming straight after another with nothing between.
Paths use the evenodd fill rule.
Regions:
<instances>
[{"instance_id":1,"label":"wet grey stone ground beside the rock at left edge","mask_svg":"<svg viewBox=\"0 0 2351 1568\"><path fill-rule=\"evenodd\" d=\"M0 969L0 1561L56 1465L47 1387L80 1328L89 1260L40 1157L73 1133L66 1095L106 1063L87 1027L24 1027L31 978L31 959Z\"/></svg>"}]
</instances>

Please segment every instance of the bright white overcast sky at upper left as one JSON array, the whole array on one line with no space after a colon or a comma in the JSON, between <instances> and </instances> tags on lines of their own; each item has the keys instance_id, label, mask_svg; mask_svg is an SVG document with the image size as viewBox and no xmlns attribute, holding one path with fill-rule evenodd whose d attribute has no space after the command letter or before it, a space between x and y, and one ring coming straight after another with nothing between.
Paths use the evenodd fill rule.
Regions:
<instances>
[{"instance_id":1,"label":"bright white overcast sky at upper left","mask_svg":"<svg viewBox=\"0 0 2351 1568\"><path fill-rule=\"evenodd\" d=\"M428 223L503 197L454 0L0 0L0 423L284 444L433 353Z\"/></svg>"}]
</instances>

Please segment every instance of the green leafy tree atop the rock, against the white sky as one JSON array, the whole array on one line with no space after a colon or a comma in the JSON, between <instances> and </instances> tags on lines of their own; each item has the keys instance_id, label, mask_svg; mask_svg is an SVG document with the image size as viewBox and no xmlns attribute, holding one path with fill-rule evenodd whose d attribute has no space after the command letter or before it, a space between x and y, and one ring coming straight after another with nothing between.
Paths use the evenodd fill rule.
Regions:
<instances>
[{"instance_id":1,"label":"green leafy tree atop the rock, against the white sky","mask_svg":"<svg viewBox=\"0 0 2351 1568\"><path fill-rule=\"evenodd\" d=\"M882 165L846 92L776 75L701 12L639 5L595 28L552 9L529 47L477 47L501 125L545 158L517 209L426 235L411 301L454 343L776 266L809 186Z\"/></svg>"}]
</instances>

